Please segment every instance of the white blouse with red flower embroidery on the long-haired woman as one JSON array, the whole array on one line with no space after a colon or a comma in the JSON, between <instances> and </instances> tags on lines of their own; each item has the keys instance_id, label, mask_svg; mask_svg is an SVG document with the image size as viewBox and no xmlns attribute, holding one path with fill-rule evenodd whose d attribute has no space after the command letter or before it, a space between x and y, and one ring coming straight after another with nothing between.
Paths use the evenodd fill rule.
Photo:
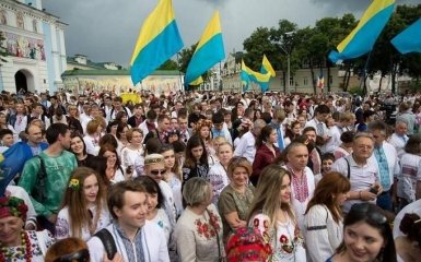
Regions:
<instances>
[{"instance_id":1,"label":"white blouse with red flower embroidery on the long-haired woman","mask_svg":"<svg viewBox=\"0 0 421 262\"><path fill-rule=\"evenodd\" d=\"M272 248L273 262L306 262L304 240L297 225L290 218L286 223L277 222L276 230L270 227L270 218L257 214L250 219L250 225L258 229L264 239Z\"/></svg>"}]
</instances>

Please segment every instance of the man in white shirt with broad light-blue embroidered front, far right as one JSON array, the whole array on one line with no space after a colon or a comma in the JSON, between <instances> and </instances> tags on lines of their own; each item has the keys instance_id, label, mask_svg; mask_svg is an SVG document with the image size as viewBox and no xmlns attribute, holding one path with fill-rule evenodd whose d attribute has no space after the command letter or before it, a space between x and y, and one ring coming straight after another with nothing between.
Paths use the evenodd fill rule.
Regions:
<instances>
[{"instance_id":1,"label":"man in white shirt with broad light-blue embroidered front, far right","mask_svg":"<svg viewBox=\"0 0 421 262\"><path fill-rule=\"evenodd\" d=\"M374 138L374 153L370 160L377 165L378 181L383 192L377 196L377 205L384 210L393 211L391 186L394 176L399 175L399 164L395 147L386 142L387 126L383 121L374 121L369 124L369 132Z\"/></svg>"}]
</instances>

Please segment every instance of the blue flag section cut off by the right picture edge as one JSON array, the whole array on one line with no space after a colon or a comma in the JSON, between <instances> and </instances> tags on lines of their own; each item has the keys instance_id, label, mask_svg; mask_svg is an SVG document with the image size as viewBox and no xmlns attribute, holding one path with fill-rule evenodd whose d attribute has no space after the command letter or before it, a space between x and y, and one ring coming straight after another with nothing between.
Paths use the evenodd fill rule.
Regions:
<instances>
[{"instance_id":1,"label":"blue flag section cut off by the right picture edge","mask_svg":"<svg viewBox=\"0 0 421 262\"><path fill-rule=\"evenodd\" d=\"M391 39L400 53L421 52L421 19Z\"/></svg>"}]
</instances>

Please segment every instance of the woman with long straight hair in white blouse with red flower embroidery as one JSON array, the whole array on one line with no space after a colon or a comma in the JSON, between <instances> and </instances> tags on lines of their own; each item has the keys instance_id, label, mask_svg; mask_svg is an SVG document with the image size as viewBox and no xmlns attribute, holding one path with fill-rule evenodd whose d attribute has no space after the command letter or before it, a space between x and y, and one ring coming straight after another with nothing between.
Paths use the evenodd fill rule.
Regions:
<instances>
[{"instance_id":1,"label":"woman with long straight hair in white blouse with red flower embroidery","mask_svg":"<svg viewBox=\"0 0 421 262\"><path fill-rule=\"evenodd\" d=\"M270 261L306 261L303 238L291 206L291 175L279 165L260 175L247 223L271 246Z\"/></svg>"}]
</instances>

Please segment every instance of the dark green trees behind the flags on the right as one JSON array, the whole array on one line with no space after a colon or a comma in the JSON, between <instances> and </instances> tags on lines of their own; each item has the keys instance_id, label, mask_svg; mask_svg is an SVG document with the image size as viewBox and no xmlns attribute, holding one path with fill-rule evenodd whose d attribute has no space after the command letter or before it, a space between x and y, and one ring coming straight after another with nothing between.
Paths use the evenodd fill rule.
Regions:
<instances>
[{"instance_id":1,"label":"dark green trees behind the flags on the right","mask_svg":"<svg viewBox=\"0 0 421 262\"><path fill-rule=\"evenodd\" d=\"M346 60L338 66L346 71L341 86L347 90L351 72L363 76L364 70L366 70L366 76L377 72L383 78L406 73L419 80L421 76L421 53L402 56L390 44L391 38L419 17L421 17L421 4L398 5L370 56L365 55L356 59ZM294 74L294 71L306 61L312 78L315 80L321 68L327 67L329 71L330 68L335 67L327 57L350 34L356 23L353 14L344 14L341 17L324 17L317 21L314 26L304 28L297 28L296 24L288 20L280 20L278 27L258 27L243 43L246 51L245 62L252 69L259 70L265 53L274 70L286 71L286 53L290 53L291 73ZM294 33L285 34L288 32ZM395 80L395 78L391 79ZM314 91L316 91L316 83L315 81L312 82ZM329 81L326 83L330 88ZM393 91L395 92L394 87L395 83L393 82Z\"/></svg>"}]
</instances>

